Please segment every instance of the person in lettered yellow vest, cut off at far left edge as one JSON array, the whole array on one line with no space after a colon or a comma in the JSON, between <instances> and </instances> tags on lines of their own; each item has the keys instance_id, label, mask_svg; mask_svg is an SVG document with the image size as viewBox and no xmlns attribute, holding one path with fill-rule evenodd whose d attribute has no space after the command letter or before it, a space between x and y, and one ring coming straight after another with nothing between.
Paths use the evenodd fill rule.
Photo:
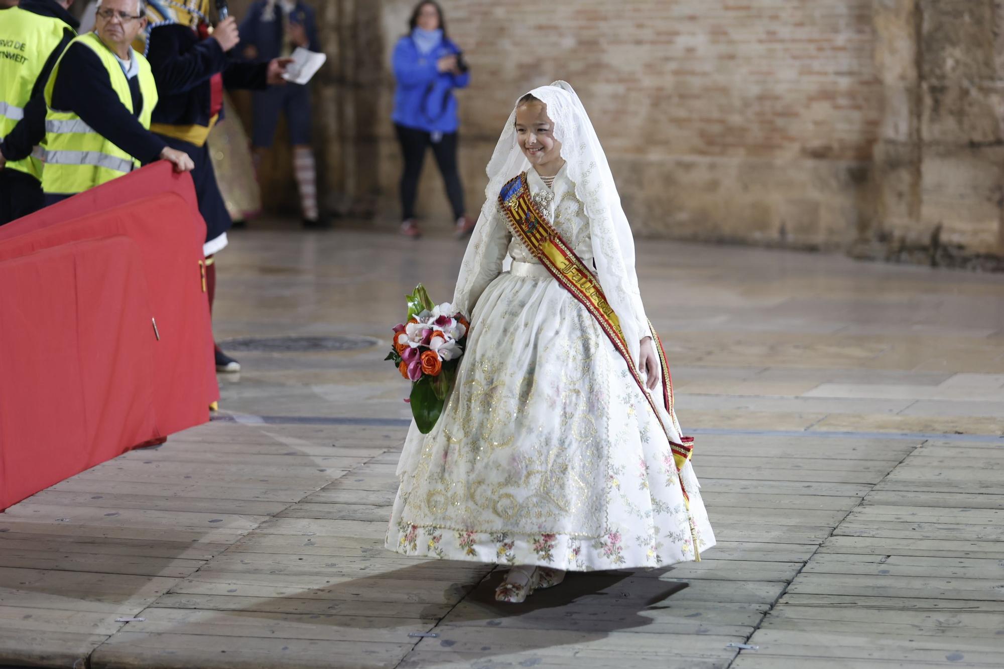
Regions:
<instances>
[{"instance_id":1,"label":"person in lettered yellow vest, cut off at far left edge","mask_svg":"<svg viewBox=\"0 0 1004 669\"><path fill-rule=\"evenodd\" d=\"M73 0L24 0L0 17L0 225L41 209L49 72L70 40ZM0 5L2 6L2 5Z\"/></svg>"}]
</instances>

